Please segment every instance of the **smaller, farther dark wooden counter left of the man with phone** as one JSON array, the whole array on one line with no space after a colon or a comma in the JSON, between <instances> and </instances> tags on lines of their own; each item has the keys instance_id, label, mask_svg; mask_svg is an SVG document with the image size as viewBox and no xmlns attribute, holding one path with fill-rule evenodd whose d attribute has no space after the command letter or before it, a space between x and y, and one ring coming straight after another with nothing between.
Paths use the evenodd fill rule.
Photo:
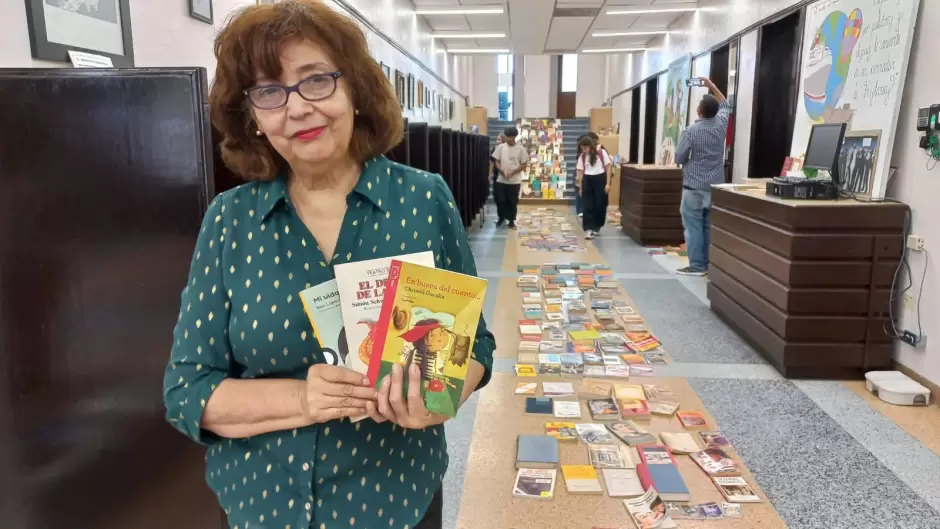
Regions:
<instances>
[{"instance_id":1,"label":"smaller, farther dark wooden counter left of the man with phone","mask_svg":"<svg viewBox=\"0 0 940 529\"><path fill-rule=\"evenodd\" d=\"M679 203L682 170L675 166L620 168L621 229L641 245L678 245L685 240Z\"/></svg>"}]
</instances>

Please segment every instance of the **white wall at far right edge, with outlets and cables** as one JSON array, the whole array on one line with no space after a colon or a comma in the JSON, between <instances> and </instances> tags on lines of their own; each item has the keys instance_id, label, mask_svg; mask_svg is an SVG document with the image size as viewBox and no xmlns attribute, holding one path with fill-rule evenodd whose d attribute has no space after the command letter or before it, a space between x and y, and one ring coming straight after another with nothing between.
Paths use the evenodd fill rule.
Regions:
<instances>
[{"instance_id":1,"label":"white wall at far right edge, with outlets and cables","mask_svg":"<svg viewBox=\"0 0 940 529\"><path fill-rule=\"evenodd\" d=\"M901 111L895 136L894 155L891 165L898 167L894 182L888 187L888 196L911 206L913 211L912 232L925 238L925 246L931 252L929 262L924 253L912 253L910 257L913 285L909 290L915 296L923 288L920 321L924 332L930 337L926 349L914 349L898 344L895 349L897 361L935 384L940 384L940 314L937 313L936 259L940 259L940 210L936 207L940 196L940 169L927 168L927 156L918 147L921 133L916 130L917 109L940 103L940 72L936 68L936 52L940 50L940 2L921 2L917 21L917 32L911 49L910 63L905 84ZM926 279L921 277L926 265ZM907 284L906 279L899 279ZM903 311L902 327L917 330L914 311Z\"/></svg>"}]
</instances>

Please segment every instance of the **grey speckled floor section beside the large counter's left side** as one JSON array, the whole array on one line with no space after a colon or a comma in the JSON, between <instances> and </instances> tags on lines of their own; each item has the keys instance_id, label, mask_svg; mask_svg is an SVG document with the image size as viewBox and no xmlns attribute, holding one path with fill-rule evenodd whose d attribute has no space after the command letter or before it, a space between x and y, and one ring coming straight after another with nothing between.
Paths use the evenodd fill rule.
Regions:
<instances>
[{"instance_id":1,"label":"grey speckled floor section beside the large counter's left side","mask_svg":"<svg viewBox=\"0 0 940 529\"><path fill-rule=\"evenodd\" d=\"M674 361L765 363L757 352L678 281L625 279L620 283Z\"/></svg>"}]
</instances>

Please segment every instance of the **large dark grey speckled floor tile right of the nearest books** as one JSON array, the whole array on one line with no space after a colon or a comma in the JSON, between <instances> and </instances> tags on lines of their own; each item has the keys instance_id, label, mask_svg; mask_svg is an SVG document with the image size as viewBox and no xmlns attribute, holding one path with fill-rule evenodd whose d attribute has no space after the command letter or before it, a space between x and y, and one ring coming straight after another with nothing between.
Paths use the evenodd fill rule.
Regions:
<instances>
[{"instance_id":1,"label":"large dark grey speckled floor tile right of the nearest books","mask_svg":"<svg viewBox=\"0 0 940 529\"><path fill-rule=\"evenodd\" d=\"M940 513L793 383L689 384L791 529L940 527Z\"/></svg>"}]
</instances>

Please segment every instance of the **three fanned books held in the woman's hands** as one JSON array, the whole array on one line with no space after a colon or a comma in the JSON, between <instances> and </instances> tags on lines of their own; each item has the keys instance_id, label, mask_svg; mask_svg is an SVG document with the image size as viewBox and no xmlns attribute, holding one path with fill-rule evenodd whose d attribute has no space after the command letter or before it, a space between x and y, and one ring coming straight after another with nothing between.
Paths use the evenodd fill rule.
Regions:
<instances>
[{"instance_id":1,"label":"three fanned books held in the woman's hands","mask_svg":"<svg viewBox=\"0 0 940 529\"><path fill-rule=\"evenodd\" d=\"M430 251L334 270L336 279L300 292L323 360L367 375L375 387L393 365L416 364L427 409L455 416L486 280L436 268Z\"/></svg>"}]
</instances>

